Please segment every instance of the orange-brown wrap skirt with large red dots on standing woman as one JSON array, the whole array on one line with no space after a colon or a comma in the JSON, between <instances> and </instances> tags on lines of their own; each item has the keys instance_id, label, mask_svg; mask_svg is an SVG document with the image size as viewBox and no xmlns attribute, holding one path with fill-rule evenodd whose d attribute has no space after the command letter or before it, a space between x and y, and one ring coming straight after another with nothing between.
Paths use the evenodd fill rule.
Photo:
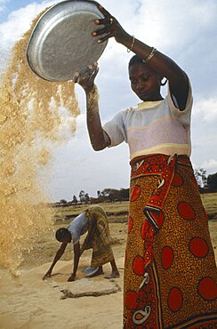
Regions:
<instances>
[{"instance_id":1,"label":"orange-brown wrap skirt with large red dots on standing woman","mask_svg":"<svg viewBox=\"0 0 217 329\"><path fill-rule=\"evenodd\" d=\"M124 328L216 328L217 271L189 157L131 166Z\"/></svg>"}]
</instances>

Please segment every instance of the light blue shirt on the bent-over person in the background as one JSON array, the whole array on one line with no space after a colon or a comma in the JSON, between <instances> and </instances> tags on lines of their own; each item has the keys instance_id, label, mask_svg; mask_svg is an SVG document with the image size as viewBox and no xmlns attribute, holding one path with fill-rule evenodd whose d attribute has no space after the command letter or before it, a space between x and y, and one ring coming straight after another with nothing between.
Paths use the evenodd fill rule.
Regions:
<instances>
[{"instance_id":1,"label":"light blue shirt on the bent-over person in the background","mask_svg":"<svg viewBox=\"0 0 217 329\"><path fill-rule=\"evenodd\" d=\"M76 218L70 222L67 229L71 233L73 245L76 245L76 243L80 240L80 237L84 235L88 229L88 219L85 214L80 213L76 216Z\"/></svg>"}]
</instances>

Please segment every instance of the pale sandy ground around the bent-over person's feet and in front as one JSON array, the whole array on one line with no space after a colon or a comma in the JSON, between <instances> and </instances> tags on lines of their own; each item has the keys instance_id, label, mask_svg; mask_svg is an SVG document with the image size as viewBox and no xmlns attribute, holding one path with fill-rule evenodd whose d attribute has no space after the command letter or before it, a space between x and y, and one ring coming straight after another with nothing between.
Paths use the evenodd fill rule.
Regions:
<instances>
[{"instance_id":1,"label":"pale sandy ground around the bent-over person's feet and in front","mask_svg":"<svg viewBox=\"0 0 217 329\"><path fill-rule=\"evenodd\" d=\"M55 272L60 274L43 281L42 277L48 265L25 270L16 279L7 276L4 272L0 315L2 329L121 328L122 292L100 297L60 300L63 295L60 290L68 288L73 292L73 285L77 285L78 280L84 279L77 277L77 281L67 283L71 261L59 261ZM80 269L84 265L88 266L89 261L83 260ZM123 259L119 259L117 265L123 267ZM103 280L105 285L108 285L108 280L103 276L85 280L88 282ZM122 281L121 270L121 277L116 279L116 282L122 286Z\"/></svg>"}]
</instances>

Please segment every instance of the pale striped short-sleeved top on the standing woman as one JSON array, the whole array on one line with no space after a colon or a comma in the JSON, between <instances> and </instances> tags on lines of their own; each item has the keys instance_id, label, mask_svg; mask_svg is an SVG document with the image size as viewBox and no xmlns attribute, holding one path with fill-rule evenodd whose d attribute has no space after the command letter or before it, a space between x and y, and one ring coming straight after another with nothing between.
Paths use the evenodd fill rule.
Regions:
<instances>
[{"instance_id":1,"label":"pale striped short-sleeved top on the standing woman","mask_svg":"<svg viewBox=\"0 0 217 329\"><path fill-rule=\"evenodd\" d=\"M143 101L137 108L127 108L103 126L111 140L109 147L124 140L130 149L130 158L161 153L187 155L191 153L190 116L192 94L184 110L176 108L168 88L165 100Z\"/></svg>"}]
</instances>

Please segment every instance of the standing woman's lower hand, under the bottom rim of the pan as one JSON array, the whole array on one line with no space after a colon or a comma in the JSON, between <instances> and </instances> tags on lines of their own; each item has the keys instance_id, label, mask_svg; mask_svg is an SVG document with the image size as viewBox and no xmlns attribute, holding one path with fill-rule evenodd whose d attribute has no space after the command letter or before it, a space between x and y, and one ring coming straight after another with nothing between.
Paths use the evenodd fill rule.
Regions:
<instances>
[{"instance_id":1,"label":"standing woman's lower hand, under the bottom rim of the pan","mask_svg":"<svg viewBox=\"0 0 217 329\"><path fill-rule=\"evenodd\" d=\"M74 82L80 84L85 92L91 92L94 87L94 80L99 71L97 63L89 65L88 68L84 68L81 72L76 72L74 76Z\"/></svg>"}]
</instances>

